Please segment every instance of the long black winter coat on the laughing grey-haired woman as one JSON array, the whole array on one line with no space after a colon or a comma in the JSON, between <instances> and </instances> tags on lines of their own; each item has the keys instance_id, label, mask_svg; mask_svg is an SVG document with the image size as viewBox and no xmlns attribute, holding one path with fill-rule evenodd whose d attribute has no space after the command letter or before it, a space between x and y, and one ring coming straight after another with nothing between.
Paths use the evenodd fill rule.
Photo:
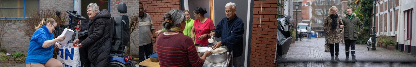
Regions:
<instances>
[{"instance_id":1,"label":"long black winter coat on the laughing grey-haired woman","mask_svg":"<svg viewBox=\"0 0 416 67\"><path fill-rule=\"evenodd\" d=\"M88 37L81 42L88 47L88 59L95 67L107 67L111 48L110 12L106 9L89 21Z\"/></svg>"}]
</instances>

